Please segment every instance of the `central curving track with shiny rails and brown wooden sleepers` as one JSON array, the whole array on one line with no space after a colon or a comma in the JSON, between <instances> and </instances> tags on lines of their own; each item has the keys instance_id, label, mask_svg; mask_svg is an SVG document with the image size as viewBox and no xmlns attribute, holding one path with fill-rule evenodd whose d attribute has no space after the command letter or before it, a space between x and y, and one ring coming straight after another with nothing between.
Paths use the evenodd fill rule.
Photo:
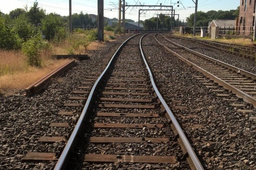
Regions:
<instances>
[{"instance_id":1,"label":"central curving track with shiny rails and brown wooden sleepers","mask_svg":"<svg viewBox=\"0 0 256 170\"><path fill-rule=\"evenodd\" d=\"M159 115L165 114L167 116L167 118L168 118L167 126L171 125L171 127L174 131L174 138L173 139L174 140L177 139L179 141L180 146L183 150L183 155L180 157L180 159L187 158L188 164L189 164L191 169L203 169L203 166L201 165L201 163L200 163L198 157L196 156L193 148L191 147L188 139L186 138L186 135L184 134L181 126L177 122L176 118L174 117L172 111L170 110L170 108L167 105L167 103L165 102L165 100L161 97L160 92L158 91L158 89L157 89L157 87L154 83L153 75L151 73L150 68L148 67L148 65L146 63L146 58L145 58L145 56L143 54L143 50L142 50L141 40L144 36L142 36L140 38L140 43L139 44L140 44L140 53L141 53L141 56L143 58L143 59L141 58L140 60L144 61L144 63L143 63L144 68L142 70L144 70L148 73L148 76L145 79L135 78L136 77L136 73L135 73L136 70L141 69L140 64L138 65L138 63L139 63L138 57L140 58L140 56L136 56L137 60L135 60L135 62L131 62L131 63L130 63L129 60L132 60L132 59L124 60L124 58L126 58L125 56L121 57L121 58L123 58L122 59L123 62L121 62L122 60L118 61L118 59L117 59L118 56L122 56L121 51L125 47L125 45L128 43L128 41L130 41L134 37L138 37L139 35L141 35L141 34L134 35L134 36L130 37L129 39L127 39L118 48L118 50L115 52L115 54L112 56L109 64L105 68L105 70L99 75L99 77L96 80L94 86L90 90L89 96L87 98L87 101L86 101L85 106L83 108L83 111L81 113L81 116L80 116L79 120L77 121L77 124L76 124L76 126L75 126L75 128L74 128L74 130L73 130L73 132L72 132L64 150L62 151L61 156L58 159L58 162L57 162L57 164L54 168L55 170L63 169L66 166L66 163L68 162L68 159L70 157L69 154L72 151L75 143L77 142L76 140L79 138L78 134L81 133L81 131L82 131L81 128L84 127L83 124L85 124L84 123L85 119L89 117L89 114L91 112L90 108L93 107L93 105L95 105L95 103L101 103L99 101L109 101L110 104L105 104L105 103L98 104L97 108L107 108L108 111L112 111L112 112L118 112L118 111L120 111L120 108L131 108L131 109L137 108L136 111L138 111L138 109L141 109L141 108L142 109L148 109L148 108L152 109L152 108L155 108L155 107L156 107L155 109L158 110L158 112L159 112L159 109L161 108L162 113L159 113ZM144 35L146 35L146 34L144 34ZM134 48L136 48L136 47L134 47ZM114 64L116 64L116 65L114 66ZM115 74L126 75L126 77L117 77L117 79L113 78L113 75L111 74L111 71L113 72L115 69L116 69L116 71L119 71L119 73L115 72ZM125 71L131 71L131 72L128 73L128 72L125 72ZM133 76L135 76L135 77L133 77ZM110 79L108 81L104 80L105 77L108 77L108 78L110 77ZM116 81L117 82L120 82L120 81L127 82L128 81L128 83L115 83ZM145 81L147 83L145 83ZM115 85L115 86L114 87L109 87L109 88L107 88L107 87L102 88L102 85L104 84L104 82L105 83L107 82L106 84ZM135 83L129 83L129 82L135 82ZM143 85L143 83L139 84L138 82L143 82L145 84L148 84L148 82L151 82L150 86L152 87L152 95L154 94L153 96L155 96L153 99L151 99L151 101L147 101L147 99L146 99L147 98L147 93L138 93L137 91L133 93L134 90L145 90L143 88L134 88L137 85ZM119 85L121 85L121 84L125 85L126 87L125 88L124 87L119 87ZM131 85L131 86L129 86L127 88L127 85ZM110 89L112 91L110 91L110 92L102 91L102 89L105 89L105 90ZM115 92L114 89L122 90L122 92ZM124 90L125 90L125 92L124 92ZM128 94L127 94L127 90L128 90ZM97 93L98 91L102 91L101 95L114 95L116 98L113 98L113 96L111 96L111 97L107 96L106 98L101 97L100 100L99 100L99 99L97 99L97 96L99 96L99 94ZM98 95L96 95L96 94L98 94ZM122 96L120 97L120 95L128 95L128 96L129 95L135 95L135 96L139 97L139 99L134 99L134 98L131 98L131 99L125 98L124 99ZM143 95L145 95L146 97L143 97ZM150 95L150 96L152 96L152 95ZM98 101L98 102L95 102L95 101ZM113 104L113 103L111 103L113 101L115 101L115 102L118 101L119 103ZM127 105L127 103L124 104L124 101L127 101L129 103L129 105ZM135 102L135 104L132 103L132 102ZM136 104L136 103L141 103L141 102L142 103L143 102L146 102L146 103L147 102L149 102L149 103L157 102L157 104L155 104L155 105L152 105L152 104L138 105L138 104ZM115 108L117 108L117 110L115 110ZM144 113L144 110L143 110L142 113L144 113L144 114L142 114L141 116L143 117L143 115L144 115L145 117L154 117L154 116L156 116L155 114L152 114L154 112L157 112L157 111L153 111L153 112L151 111L150 115L148 115L148 113L147 113L147 116L145 116L146 113ZM104 116L109 116L109 115L106 115L108 113L98 113L98 114L101 114L101 116L103 116L103 115ZM116 115L117 113L111 113L111 114L112 115L115 114L115 116L117 116ZM131 116L132 114L129 114L129 113L128 114L127 113L118 114L119 117L129 116L129 115ZM135 114L135 115L136 115L136 117L140 117L140 115L138 115L138 114ZM132 116L134 116L134 115L132 115ZM122 123L113 123L113 124L111 124L111 123L95 123L94 128L106 128L106 126L109 126L108 128L111 128L111 127L112 128L117 128L117 127L119 127L119 128L142 128L144 130L145 128L150 129L150 128L158 128L158 126L160 127L161 125L157 124L157 122L158 121L154 122L155 124L150 124L150 123L149 124L141 124L141 123L136 124L135 123L135 125L134 125L134 123L129 123L129 124L124 123L123 125L122 125ZM96 140L96 138L93 138L93 139ZM150 138L150 139L147 139L147 138L145 139L145 138L144 137L142 137L142 138L133 138L133 140L135 140L135 141L139 140L139 141L137 141L137 143L138 142L143 143L145 140L148 143L151 143L154 140L162 140L162 139L159 139L159 138ZM102 140L108 140L108 139L109 138L104 138L104 137L103 138L97 138L97 140L98 140L97 142L102 142ZM123 138L124 139L123 141L120 141L120 139L122 139L122 137L118 137L118 139L117 138L111 138L111 142L118 142L118 141L119 142L127 142L128 138ZM101 140L101 141L99 141L99 140ZM92 141L92 140L90 139L90 141ZM163 143L163 142L161 141L160 143ZM156 153L157 153L157 151L153 155L155 155ZM171 158L171 157L168 157L168 156L160 156L161 157L161 160L160 160L159 159L160 157L157 157L157 156L153 156L153 157L151 157L151 156L148 156L148 157L141 156L140 157L138 155L130 155L130 156L129 155L109 155L108 160L105 161L105 158L101 157L101 155L99 155L99 154L95 154L95 155L94 154L87 154L86 156L87 156L87 159L85 158L85 161L87 160L89 162L95 162L95 161L97 162L97 161L99 161L99 160L97 160L97 158L98 158L103 162L112 162L113 160L115 160L117 162L165 163L166 159ZM90 157L90 156L92 156L92 157ZM170 161L170 160L168 160L168 161Z\"/></svg>"}]
</instances>

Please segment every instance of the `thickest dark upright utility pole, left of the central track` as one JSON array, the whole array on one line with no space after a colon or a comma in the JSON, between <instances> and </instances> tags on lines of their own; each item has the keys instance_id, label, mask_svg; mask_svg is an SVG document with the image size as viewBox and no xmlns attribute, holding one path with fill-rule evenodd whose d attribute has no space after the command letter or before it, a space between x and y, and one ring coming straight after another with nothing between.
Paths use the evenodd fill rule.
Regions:
<instances>
[{"instance_id":1,"label":"thickest dark upright utility pole, left of the central track","mask_svg":"<svg viewBox=\"0 0 256 170\"><path fill-rule=\"evenodd\" d=\"M104 1L98 0L98 40L104 41Z\"/></svg>"}]
</instances>

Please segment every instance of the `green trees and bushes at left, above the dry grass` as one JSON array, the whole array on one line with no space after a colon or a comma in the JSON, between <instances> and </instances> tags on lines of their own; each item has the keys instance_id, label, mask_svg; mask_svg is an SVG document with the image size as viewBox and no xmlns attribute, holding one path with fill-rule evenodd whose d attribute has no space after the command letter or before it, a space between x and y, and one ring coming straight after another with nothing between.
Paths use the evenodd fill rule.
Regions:
<instances>
[{"instance_id":1,"label":"green trees and bushes at left, above the dry grass","mask_svg":"<svg viewBox=\"0 0 256 170\"><path fill-rule=\"evenodd\" d=\"M73 14L72 19L73 24L78 26L94 24L83 12ZM52 44L58 45L68 39L67 27L68 17L56 13L46 15L37 1L29 9L27 6L17 8L9 14L0 11L0 50L22 50L29 65L40 67L40 51L50 50ZM84 44L88 44L88 39L95 39L96 35L97 31L96 34L92 32L89 38L85 38Z\"/></svg>"}]
</instances>

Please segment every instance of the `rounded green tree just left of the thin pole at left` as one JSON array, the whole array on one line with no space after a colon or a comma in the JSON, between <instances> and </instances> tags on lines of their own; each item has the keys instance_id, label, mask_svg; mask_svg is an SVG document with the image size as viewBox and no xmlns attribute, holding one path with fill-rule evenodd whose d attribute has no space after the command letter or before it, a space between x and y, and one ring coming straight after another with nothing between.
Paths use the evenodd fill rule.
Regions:
<instances>
[{"instance_id":1,"label":"rounded green tree just left of the thin pole at left","mask_svg":"<svg viewBox=\"0 0 256 170\"><path fill-rule=\"evenodd\" d=\"M55 34L57 34L63 26L64 22L62 18L55 13L50 13L42 20L42 30L47 40L53 39Z\"/></svg>"}]
</instances>

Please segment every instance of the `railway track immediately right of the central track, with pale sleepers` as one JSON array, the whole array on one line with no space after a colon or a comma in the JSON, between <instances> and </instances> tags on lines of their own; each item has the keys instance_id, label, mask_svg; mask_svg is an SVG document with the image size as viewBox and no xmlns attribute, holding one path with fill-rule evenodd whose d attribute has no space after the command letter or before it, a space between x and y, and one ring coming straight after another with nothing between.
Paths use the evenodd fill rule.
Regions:
<instances>
[{"instance_id":1,"label":"railway track immediately right of the central track, with pale sleepers","mask_svg":"<svg viewBox=\"0 0 256 170\"><path fill-rule=\"evenodd\" d=\"M238 97L256 105L256 75L248 71L215 60L209 56L200 54L179 44L167 37L155 35L159 44L168 51L178 56L181 60L202 72L224 88L231 90ZM223 90L219 92L224 92Z\"/></svg>"}]
</instances>

